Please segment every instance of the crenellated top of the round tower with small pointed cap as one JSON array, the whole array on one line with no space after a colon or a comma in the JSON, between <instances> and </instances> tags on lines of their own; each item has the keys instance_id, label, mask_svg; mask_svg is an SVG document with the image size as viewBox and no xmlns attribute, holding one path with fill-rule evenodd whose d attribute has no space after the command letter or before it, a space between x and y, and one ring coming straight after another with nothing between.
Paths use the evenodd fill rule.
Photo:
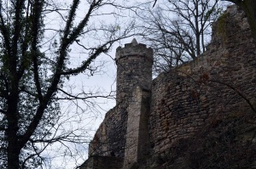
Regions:
<instances>
[{"instance_id":1,"label":"crenellated top of the round tower with small pointed cap","mask_svg":"<svg viewBox=\"0 0 256 169\"><path fill-rule=\"evenodd\" d=\"M138 43L135 38L132 39L131 43L126 43L125 48L119 47L116 49L116 63L119 59L129 56L146 57L153 63L153 49L147 48L143 43Z\"/></svg>"}]
</instances>

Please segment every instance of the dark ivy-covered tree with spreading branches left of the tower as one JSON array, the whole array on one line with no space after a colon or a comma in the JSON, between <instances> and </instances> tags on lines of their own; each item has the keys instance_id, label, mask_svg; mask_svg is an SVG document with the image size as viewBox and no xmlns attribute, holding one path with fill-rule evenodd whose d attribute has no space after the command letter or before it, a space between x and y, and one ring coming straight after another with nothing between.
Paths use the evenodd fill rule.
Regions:
<instances>
[{"instance_id":1,"label":"dark ivy-covered tree with spreading branches left of the tower","mask_svg":"<svg viewBox=\"0 0 256 169\"><path fill-rule=\"evenodd\" d=\"M72 76L93 75L95 59L129 37L132 24L120 32L117 24L101 20L122 9L114 0L0 2L0 166L35 168L46 161L42 153L50 145L69 149L68 143L86 142L67 127L73 115L61 119L60 100L79 109L78 100L94 105L93 99L111 96L73 93L65 85Z\"/></svg>"}]
</instances>

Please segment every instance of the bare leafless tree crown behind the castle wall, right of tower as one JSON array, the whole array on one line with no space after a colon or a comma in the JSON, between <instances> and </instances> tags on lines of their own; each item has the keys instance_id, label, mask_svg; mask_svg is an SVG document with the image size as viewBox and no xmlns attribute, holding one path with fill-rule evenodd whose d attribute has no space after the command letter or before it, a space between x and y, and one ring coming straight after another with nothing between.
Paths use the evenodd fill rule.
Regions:
<instances>
[{"instance_id":1,"label":"bare leafless tree crown behind the castle wall, right of tower","mask_svg":"<svg viewBox=\"0 0 256 169\"><path fill-rule=\"evenodd\" d=\"M142 34L154 48L155 70L169 70L203 53L210 25L221 12L218 0L166 0L144 8Z\"/></svg>"}]
</instances>

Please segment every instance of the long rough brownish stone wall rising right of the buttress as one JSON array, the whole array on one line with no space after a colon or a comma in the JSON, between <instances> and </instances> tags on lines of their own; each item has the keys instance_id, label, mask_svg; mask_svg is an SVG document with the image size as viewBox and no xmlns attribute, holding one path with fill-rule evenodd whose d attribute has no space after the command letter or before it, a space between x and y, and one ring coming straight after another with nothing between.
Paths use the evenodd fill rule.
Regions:
<instances>
[{"instance_id":1,"label":"long rough brownish stone wall rising right of the buttress","mask_svg":"<svg viewBox=\"0 0 256 169\"><path fill-rule=\"evenodd\" d=\"M256 101L256 50L245 15L228 8L213 26L212 43L195 61L154 79L150 144L161 154L195 135L218 115L249 112Z\"/></svg>"}]
</instances>

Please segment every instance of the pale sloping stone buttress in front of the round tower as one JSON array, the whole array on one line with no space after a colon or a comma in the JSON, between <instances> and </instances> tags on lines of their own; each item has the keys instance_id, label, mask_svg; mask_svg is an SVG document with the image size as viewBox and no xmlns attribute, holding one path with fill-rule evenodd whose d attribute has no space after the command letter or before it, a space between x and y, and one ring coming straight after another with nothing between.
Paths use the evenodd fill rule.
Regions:
<instances>
[{"instance_id":1,"label":"pale sloping stone buttress in front of the round tower","mask_svg":"<svg viewBox=\"0 0 256 169\"><path fill-rule=\"evenodd\" d=\"M128 108L124 168L130 168L148 155L148 114L150 92L136 87Z\"/></svg>"}]
</instances>

